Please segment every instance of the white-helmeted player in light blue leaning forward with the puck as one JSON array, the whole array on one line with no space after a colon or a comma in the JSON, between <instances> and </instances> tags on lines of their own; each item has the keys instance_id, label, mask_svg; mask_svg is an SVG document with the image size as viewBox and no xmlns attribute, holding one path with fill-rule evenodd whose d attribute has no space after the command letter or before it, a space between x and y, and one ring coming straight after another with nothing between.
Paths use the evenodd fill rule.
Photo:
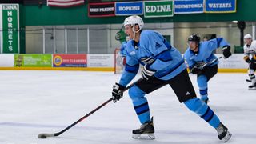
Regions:
<instances>
[{"instance_id":1,"label":"white-helmeted player in light blue leaning forward with the puck","mask_svg":"<svg viewBox=\"0 0 256 144\"><path fill-rule=\"evenodd\" d=\"M179 102L183 102L188 109L213 126L218 132L218 138L227 142L231 137L230 132L214 111L196 97L186 71L186 64L179 51L170 46L158 32L142 30L144 23L139 16L126 18L124 26L126 34L132 40L126 44L126 68L119 82L113 86L112 98L114 102L122 98L122 90L137 74L141 63L142 80L136 82L129 90L134 110L142 124L139 129L132 131L133 138L155 138L153 118L150 119L150 107L145 95L162 86L170 85Z\"/></svg>"}]
</instances>

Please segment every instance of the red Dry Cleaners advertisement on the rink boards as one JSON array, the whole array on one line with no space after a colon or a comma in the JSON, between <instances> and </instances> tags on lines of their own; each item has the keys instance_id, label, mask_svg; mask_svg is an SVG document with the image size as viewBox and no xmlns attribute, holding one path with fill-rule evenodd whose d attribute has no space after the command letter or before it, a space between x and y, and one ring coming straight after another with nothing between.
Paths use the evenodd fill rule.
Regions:
<instances>
[{"instance_id":1,"label":"red Dry Cleaners advertisement on the rink boards","mask_svg":"<svg viewBox=\"0 0 256 144\"><path fill-rule=\"evenodd\" d=\"M86 67L86 54L54 54L54 67Z\"/></svg>"}]
</instances>

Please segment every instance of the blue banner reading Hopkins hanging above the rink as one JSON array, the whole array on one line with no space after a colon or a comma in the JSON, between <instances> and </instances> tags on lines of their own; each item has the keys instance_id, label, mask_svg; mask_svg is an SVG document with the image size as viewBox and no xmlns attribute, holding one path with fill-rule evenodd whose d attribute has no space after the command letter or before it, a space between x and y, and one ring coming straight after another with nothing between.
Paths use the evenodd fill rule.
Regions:
<instances>
[{"instance_id":1,"label":"blue banner reading Hopkins hanging above the rink","mask_svg":"<svg viewBox=\"0 0 256 144\"><path fill-rule=\"evenodd\" d=\"M143 2L116 2L115 3L116 15L142 15Z\"/></svg>"}]
</instances>

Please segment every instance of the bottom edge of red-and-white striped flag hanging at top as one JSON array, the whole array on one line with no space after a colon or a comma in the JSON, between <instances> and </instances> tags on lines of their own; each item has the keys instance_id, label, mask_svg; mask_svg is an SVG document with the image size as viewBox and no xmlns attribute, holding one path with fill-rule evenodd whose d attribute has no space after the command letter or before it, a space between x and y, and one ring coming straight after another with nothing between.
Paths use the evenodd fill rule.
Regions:
<instances>
[{"instance_id":1,"label":"bottom edge of red-and-white striped flag hanging at top","mask_svg":"<svg viewBox=\"0 0 256 144\"><path fill-rule=\"evenodd\" d=\"M47 6L70 7L83 5L85 0L47 0Z\"/></svg>"}]
</instances>

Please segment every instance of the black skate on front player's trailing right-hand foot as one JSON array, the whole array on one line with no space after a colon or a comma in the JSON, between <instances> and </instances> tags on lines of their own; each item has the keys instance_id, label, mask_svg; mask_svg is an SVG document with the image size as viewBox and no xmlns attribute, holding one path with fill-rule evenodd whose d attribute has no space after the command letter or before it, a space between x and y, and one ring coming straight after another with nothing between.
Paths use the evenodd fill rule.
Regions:
<instances>
[{"instance_id":1,"label":"black skate on front player's trailing right-hand foot","mask_svg":"<svg viewBox=\"0 0 256 144\"><path fill-rule=\"evenodd\" d=\"M216 130L218 132L218 139L222 140L223 142L227 142L232 136L232 134L228 131L226 126L222 124L222 122L218 125Z\"/></svg>"}]
</instances>

